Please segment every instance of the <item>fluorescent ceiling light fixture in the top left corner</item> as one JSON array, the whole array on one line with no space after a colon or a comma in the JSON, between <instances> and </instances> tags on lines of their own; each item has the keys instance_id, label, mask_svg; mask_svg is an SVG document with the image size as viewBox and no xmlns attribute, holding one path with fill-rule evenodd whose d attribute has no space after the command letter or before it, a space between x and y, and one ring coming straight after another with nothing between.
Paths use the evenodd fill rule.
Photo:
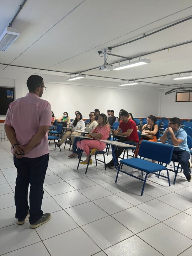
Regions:
<instances>
[{"instance_id":1,"label":"fluorescent ceiling light fixture in the top left corner","mask_svg":"<svg viewBox=\"0 0 192 256\"><path fill-rule=\"evenodd\" d=\"M8 47L19 37L21 30L12 27L6 27L0 36L0 51L6 51Z\"/></svg>"}]
</instances>

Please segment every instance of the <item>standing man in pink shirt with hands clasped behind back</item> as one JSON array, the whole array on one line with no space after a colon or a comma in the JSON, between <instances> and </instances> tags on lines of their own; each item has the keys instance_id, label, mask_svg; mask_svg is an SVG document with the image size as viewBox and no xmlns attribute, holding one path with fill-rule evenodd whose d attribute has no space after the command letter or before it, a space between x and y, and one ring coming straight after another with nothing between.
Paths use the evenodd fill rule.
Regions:
<instances>
[{"instance_id":1,"label":"standing man in pink shirt with hands clasped behind back","mask_svg":"<svg viewBox=\"0 0 192 256\"><path fill-rule=\"evenodd\" d=\"M48 129L51 125L51 106L40 99L43 78L32 75L27 80L29 93L9 105L5 118L5 132L14 154L17 168L15 206L17 224L24 224L30 215L30 227L47 222L50 213L41 210L43 183L49 161ZM30 208L27 202L30 184Z\"/></svg>"}]
</instances>

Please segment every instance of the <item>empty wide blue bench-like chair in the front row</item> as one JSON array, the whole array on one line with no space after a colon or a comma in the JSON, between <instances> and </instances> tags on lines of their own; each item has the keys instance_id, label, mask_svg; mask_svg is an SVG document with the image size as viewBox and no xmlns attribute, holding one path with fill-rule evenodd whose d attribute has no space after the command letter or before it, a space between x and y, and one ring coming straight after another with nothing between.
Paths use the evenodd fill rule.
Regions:
<instances>
[{"instance_id":1,"label":"empty wide blue bench-like chair in the front row","mask_svg":"<svg viewBox=\"0 0 192 256\"><path fill-rule=\"evenodd\" d=\"M128 158L128 159L122 159L120 160L120 164L118 167L117 171L117 176L115 182L117 182L117 178L119 175L119 171L123 172L124 174L127 174L129 176L132 176L134 178L137 178L138 180L144 181L143 183L143 188L141 192L141 196L143 195L143 191L145 188L145 183L148 174L155 174L164 178L168 179L169 186L170 184L170 178L169 178L169 171L164 164L169 164L171 162L172 154L173 154L174 146L169 145L169 144L161 144L161 143L154 143L154 142L149 142L147 140L143 140L140 144L139 147L139 155L140 158ZM144 159L141 159L143 157ZM148 159L154 159L158 161L158 164L149 162L145 160L145 158ZM145 172L145 178L140 178L138 176L138 172L132 172L132 171L123 171L121 170L122 165L127 165L129 167L132 167L134 169L140 170L141 175L143 176L143 172ZM161 171L166 170L167 171L167 176L161 175Z\"/></svg>"}]
</instances>

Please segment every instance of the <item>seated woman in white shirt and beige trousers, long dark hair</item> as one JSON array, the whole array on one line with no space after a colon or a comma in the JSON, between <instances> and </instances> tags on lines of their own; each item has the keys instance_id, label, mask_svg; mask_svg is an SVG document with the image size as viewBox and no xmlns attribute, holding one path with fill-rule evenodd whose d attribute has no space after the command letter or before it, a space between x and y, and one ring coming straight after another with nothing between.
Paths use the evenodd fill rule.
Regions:
<instances>
[{"instance_id":1,"label":"seated woman in white shirt and beige trousers, long dark hair","mask_svg":"<svg viewBox=\"0 0 192 256\"><path fill-rule=\"evenodd\" d=\"M76 118L75 118L75 120L73 120L73 121L71 122L70 127L72 127L74 130L83 130L83 131L85 130L85 123L84 123L84 121L82 120L82 114L81 114L81 113L78 112L78 113L76 114ZM66 138L68 138L68 137L71 136L71 133L74 133L75 135L76 135L76 134L79 135L79 133L73 131L73 129L72 129L72 130L67 130L67 131L63 134L63 136L62 136L62 138L60 139L60 142L59 142L60 145L63 144L63 142L66 140ZM73 143L73 139L74 139L74 137L71 136L71 144ZM58 143L55 143L55 144L59 147L59 144L58 144ZM72 144L72 146L73 146L73 144Z\"/></svg>"}]
</instances>

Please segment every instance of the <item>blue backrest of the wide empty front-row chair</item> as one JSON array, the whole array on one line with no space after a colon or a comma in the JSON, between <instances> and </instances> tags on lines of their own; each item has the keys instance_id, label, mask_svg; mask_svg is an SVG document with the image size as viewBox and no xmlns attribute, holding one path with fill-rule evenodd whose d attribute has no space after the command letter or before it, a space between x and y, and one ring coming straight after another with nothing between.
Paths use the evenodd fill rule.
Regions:
<instances>
[{"instance_id":1,"label":"blue backrest of the wide empty front-row chair","mask_svg":"<svg viewBox=\"0 0 192 256\"><path fill-rule=\"evenodd\" d=\"M171 162L173 150L173 145L143 140L140 144L138 154L144 158L169 164Z\"/></svg>"}]
</instances>

